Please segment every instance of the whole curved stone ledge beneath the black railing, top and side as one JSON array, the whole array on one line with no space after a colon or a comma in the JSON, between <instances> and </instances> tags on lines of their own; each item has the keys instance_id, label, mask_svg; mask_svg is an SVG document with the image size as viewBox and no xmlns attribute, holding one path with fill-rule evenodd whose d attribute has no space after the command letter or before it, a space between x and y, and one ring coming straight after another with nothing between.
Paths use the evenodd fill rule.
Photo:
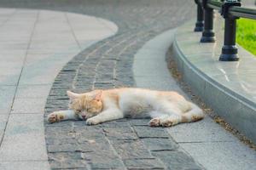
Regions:
<instances>
[{"instance_id":1,"label":"whole curved stone ledge beneath the black railing, top and side","mask_svg":"<svg viewBox=\"0 0 256 170\"><path fill-rule=\"evenodd\" d=\"M223 20L214 20L215 43L199 42L201 32L193 31L194 21L177 29L172 47L183 81L226 122L256 143L256 58L238 46L239 61L218 61Z\"/></svg>"}]
</instances>

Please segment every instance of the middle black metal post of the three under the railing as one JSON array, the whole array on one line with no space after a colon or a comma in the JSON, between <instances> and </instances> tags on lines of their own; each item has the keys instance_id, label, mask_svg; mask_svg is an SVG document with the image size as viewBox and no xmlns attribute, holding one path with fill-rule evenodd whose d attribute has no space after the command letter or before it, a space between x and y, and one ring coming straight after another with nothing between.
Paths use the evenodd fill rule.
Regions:
<instances>
[{"instance_id":1,"label":"middle black metal post of the three under the railing","mask_svg":"<svg viewBox=\"0 0 256 170\"><path fill-rule=\"evenodd\" d=\"M207 7L207 0L203 0L204 8L204 31L200 42L215 42L215 34L213 31L213 9Z\"/></svg>"}]
</instances>

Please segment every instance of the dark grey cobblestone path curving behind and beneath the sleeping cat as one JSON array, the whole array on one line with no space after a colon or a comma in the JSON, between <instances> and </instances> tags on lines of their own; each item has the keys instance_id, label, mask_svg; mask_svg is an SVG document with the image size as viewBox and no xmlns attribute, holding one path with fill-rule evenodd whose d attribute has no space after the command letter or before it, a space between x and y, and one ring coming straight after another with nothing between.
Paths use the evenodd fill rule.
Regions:
<instances>
[{"instance_id":1,"label":"dark grey cobblestone path curving behind and beneath the sleeping cat","mask_svg":"<svg viewBox=\"0 0 256 170\"><path fill-rule=\"evenodd\" d=\"M45 116L67 109L67 89L134 86L132 62L137 50L195 15L194 2L186 0L2 0L0 4L95 15L119 26L115 36L86 48L63 67L50 91ZM91 127L79 121L45 122L44 126L52 169L202 169L164 128L148 127L148 120L122 119Z\"/></svg>"}]
</instances>

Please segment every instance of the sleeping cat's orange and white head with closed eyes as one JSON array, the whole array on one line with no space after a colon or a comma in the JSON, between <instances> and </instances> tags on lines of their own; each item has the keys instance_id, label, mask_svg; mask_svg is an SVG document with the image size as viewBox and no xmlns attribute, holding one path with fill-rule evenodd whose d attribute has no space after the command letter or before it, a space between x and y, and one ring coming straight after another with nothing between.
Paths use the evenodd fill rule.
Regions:
<instances>
[{"instance_id":1,"label":"sleeping cat's orange and white head with closed eyes","mask_svg":"<svg viewBox=\"0 0 256 170\"><path fill-rule=\"evenodd\" d=\"M95 90L86 94L75 94L67 91L67 95L70 99L69 108L81 119L86 120L96 116L103 109L102 90Z\"/></svg>"}]
</instances>

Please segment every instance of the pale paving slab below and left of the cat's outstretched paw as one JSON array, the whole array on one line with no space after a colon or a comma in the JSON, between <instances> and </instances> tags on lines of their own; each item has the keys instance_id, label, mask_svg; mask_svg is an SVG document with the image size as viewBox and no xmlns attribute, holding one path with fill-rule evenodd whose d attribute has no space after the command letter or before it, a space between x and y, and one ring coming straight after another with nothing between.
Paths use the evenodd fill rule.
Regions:
<instances>
[{"instance_id":1,"label":"pale paving slab below and left of the cat's outstretched paw","mask_svg":"<svg viewBox=\"0 0 256 170\"><path fill-rule=\"evenodd\" d=\"M43 115L10 115L0 148L2 161L45 161ZM17 142L19 141L19 142ZM28 152L27 150L37 150Z\"/></svg>"}]
</instances>

